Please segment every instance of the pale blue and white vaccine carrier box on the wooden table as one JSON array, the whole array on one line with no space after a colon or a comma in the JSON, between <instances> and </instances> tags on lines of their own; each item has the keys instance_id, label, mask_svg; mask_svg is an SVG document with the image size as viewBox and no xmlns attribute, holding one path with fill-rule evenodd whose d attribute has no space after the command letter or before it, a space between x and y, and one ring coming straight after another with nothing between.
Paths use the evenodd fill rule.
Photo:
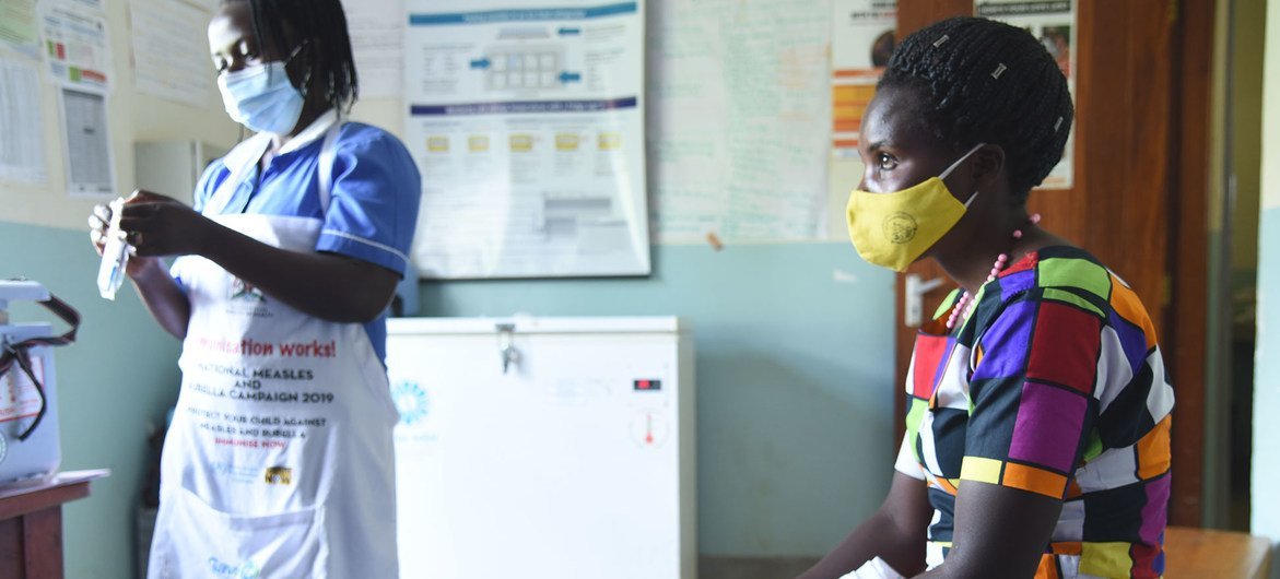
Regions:
<instances>
[{"instance_id":1,"label":"pale blue and white vaccine carrier box on the wooden table","mask_svg":"<svg viewBox=\"0 0 1280 579\"><path fill-rule=\"evenodd\" d=\"M49 291L35 281L0 281L0 345L8 350L10 345L32 337L52 337L54 328L50 323L9 321L9 302L47 299ZM0 374L0 486L45 482L58 472L61 463L58 376L54 372L52 348L31 345L26 351L31 372L40 381L44 396L17 362ZM27 440L19 440L40 414L41 399L45 405L44 418Z\"/></svg>"}]
</instances>

